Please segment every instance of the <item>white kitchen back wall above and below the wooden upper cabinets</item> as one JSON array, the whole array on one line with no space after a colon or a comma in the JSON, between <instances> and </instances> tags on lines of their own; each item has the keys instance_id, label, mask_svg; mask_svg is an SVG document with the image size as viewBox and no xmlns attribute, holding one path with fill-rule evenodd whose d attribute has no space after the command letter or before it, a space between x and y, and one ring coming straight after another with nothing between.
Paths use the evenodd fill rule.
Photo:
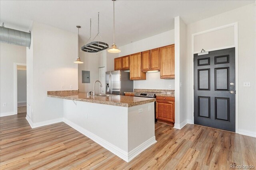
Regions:
<instances>
[{"instance_id":1,"label":"white kitchen back wall above and below the wooden upper cabinets","mask_svg":"<svg viewBox=\"0 0 256 170\"><path fill-rule=\"evenodd\" d=\"M141 51L146 51L154 49L157 47L162 47L165 45L174 44L174 29L136 41L124 46L119 49L119 57L130 55L133 53L138 53ZM114 66L113 66L114 68ZM147 73L146 80L135 80L133 88L138 89L169 89L169 85L174 89L174 79L160 79L160 72Z\"/></svg>"}]
</instances>

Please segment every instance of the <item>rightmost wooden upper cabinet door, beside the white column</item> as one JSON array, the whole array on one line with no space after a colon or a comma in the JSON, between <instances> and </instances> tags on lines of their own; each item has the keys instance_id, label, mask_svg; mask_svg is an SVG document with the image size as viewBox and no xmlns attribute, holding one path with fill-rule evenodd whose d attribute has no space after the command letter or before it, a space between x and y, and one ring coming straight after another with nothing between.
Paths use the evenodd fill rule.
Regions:
<instances>
[{"instance_id":1,"label":"rightmost wooden upper cabinet door, beside the white column","mask_svg":"<svg viewBox=\"0 0 256 170\"><path fill-rule=\"evenodd\" d=\"M175 78L174 44L160 48L160 78Z\"/></svg>"}]
</instances>

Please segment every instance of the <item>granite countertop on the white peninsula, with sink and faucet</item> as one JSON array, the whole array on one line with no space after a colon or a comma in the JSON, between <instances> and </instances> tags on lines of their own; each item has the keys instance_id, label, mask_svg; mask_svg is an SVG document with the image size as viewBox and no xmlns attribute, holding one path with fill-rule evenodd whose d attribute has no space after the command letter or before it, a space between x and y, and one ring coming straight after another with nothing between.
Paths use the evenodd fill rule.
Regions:
<instances>
[{"instance_id":1,"label":"granite countertop on the white peninsula, with sink and faucet","mask_svg":"<svg viewBox=\"0 0 256 170\"><path fill-rule=\"evenodd\" d=\"M81 102L90 102L97 104L107 104L113 106L122 106L122 107L132 107L142 104L147 104L151 102L155 102L156 99L152 98L141 98L141 97L133 97L133 96L87 96L85 92L78 92L78 90L70 90L70 91L48 91L48 97L52 98L61 98L67 100L76 100Z\"/></svg>"}]
</instances>

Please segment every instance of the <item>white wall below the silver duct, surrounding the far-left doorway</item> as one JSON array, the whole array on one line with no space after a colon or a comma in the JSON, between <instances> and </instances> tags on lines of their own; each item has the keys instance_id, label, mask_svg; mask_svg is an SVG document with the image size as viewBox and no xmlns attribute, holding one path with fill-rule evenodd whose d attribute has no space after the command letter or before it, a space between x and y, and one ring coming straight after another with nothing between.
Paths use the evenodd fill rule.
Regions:
<instances>
[{"instance_id":1,"label":"white wall below the silver duct, surrounding the far-left doorway","mask_svg":"<svg viewBox=\"0 0 256 170\"><path fill-rule=\"evenodd\" d=\"M1 114L14 113L14 63L26 64L26 47L0 43Z\"/></svg>"}]
</instances>

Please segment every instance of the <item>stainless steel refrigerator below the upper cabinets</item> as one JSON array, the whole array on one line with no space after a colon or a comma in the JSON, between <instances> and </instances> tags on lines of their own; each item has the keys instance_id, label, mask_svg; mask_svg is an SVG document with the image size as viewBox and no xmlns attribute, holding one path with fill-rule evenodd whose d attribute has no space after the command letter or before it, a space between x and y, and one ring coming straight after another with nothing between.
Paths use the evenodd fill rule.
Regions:
<instances>
[{"instance_id":1,"label":"stainless steel refrigerator below the upper cabinets","mask_svg":"<svg viewBox=\"0 0 256 170\"><path fill-rule=\"evenodd\" d=\"M106 94L124 95L124 92L133 92L130 72L122 70L106 72Z\"/></svg>"}]
</instances>

